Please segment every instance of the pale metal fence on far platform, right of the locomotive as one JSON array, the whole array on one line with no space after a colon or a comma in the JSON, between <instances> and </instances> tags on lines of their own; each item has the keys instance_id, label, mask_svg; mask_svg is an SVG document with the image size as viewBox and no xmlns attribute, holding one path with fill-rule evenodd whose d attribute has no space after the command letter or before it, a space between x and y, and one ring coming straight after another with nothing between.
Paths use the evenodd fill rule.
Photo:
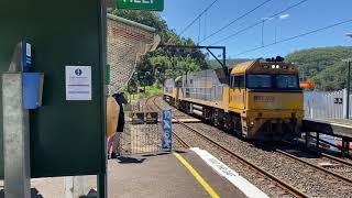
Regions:
<instances>
[{"instance_id":1,"label":"pale metal fence on far platform, right of the locomotive","mask_svg":"<svg viewBox=\"0 0 352 198\"><path fill-rule=\"evenodd\" d=\"M307 91L304 96L305 119L344 119L346 116L346 89L330 92ZM351 99L350 95L350 101ZM350 116L351 111L350 106Z\"/></svg>"}]
</instances>

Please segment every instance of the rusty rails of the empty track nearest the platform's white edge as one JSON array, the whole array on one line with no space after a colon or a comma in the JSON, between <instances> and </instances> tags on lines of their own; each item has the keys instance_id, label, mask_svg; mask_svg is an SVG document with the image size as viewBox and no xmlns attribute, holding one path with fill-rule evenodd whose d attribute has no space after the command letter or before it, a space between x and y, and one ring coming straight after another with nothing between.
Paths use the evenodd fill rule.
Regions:
<instances>
[{"instance_id":1,"label":"rusty rails of the empty track nearest the platform's white edge","mask_svg":"<svg viewBox=\"0 0 352 198\"><path fill-rule=\"evenodd\" d=\"M155 105L155 107L157 107L160 110L162 110L162 107L155 101L157 99L157 97L155 97L153 99L153 102ZM202 133L198 132L197 130L188 127L186 123L182 122L178 120L178 118L173 117L174 120L176 120L176 122L182 125L183 128L187 129L188 131L195 133L196 135L198 135L199 138L201 138L202 140L209 142L210 144L215 145L216 147L218 147L220 151L222 151L223 153L226 153L227 155L231 156L232 158L234 158L235 161L240 162L241 164L248 166L251 170L254 170L257 173L257 175L260 175L262 177L262 179L266 179L270 180L271 183L274 183L275 185L273 187L278 187L283 190L282 195L292 195L294 197L308 197L305 193L299 191L298 189L296 189L295 187L290 186L289 184L280 180L279 178L275 177L274 175L267 173L266 170L262 169L261 167L256 166L255 164L246 161L245 158L243 158L242 156L235 154L234 152L230 151L229 148L222 146L221 144L217 143L216 141L211 140L210 138L204 135ZM190 145L185 142L178 134L177 132L173 133L175 135L175 139L177 140L177 142L179 142L184 147L188 148L190 147Z\"/></svg>"}]
</instances>

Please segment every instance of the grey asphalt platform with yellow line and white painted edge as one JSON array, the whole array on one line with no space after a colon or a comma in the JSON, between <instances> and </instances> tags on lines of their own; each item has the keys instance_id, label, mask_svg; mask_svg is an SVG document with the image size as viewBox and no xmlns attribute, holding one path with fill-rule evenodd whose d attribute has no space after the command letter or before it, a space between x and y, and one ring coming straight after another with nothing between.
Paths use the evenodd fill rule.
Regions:
<instances>
[{"instance_id":1,"label":"grey asphalt platform with yellow line and white painted edge","mask_svg":"<svg viewBox=\"0 0 352 198\"><path fill-rule=\"evenodd\" d=\"M255 186L219 163L215 163L218 167L212 168L202 160L209 156L200 156L196 152L182 150L109 160L108 197L266 197ZM75 180L77 195L77 178ZM65 197L63 184L63 177L32 179L32 197ZM85 176L85 193L94 195L96 184L96 176Z\"/></svg>"}]
</instances>

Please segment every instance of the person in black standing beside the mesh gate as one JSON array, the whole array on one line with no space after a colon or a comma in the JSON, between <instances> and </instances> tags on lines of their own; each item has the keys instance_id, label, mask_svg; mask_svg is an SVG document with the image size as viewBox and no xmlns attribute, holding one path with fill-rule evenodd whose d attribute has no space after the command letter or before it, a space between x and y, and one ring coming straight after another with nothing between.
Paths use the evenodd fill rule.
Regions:
<instances>
[{"instance_id":1,"label":"person in black standing beside the mesh gate","mask_svg":"<svg viewBox=\"0 0 352 198\"><path fill-rule=\"evenodd\" d=\"M112 97L117 100L118 105L120 106L119 111L119 121L118 121L118 128L117 128L117 146L118 146L118 155L120 154L121 147L120 147L120 138L121 133L124 129L124 111L123 111L123 105L128 103L128 100L124 97L124 92L118 92L112 95ZM113 154L111 154L111 158L113 158Z\"/></svg>"}]
</instances>

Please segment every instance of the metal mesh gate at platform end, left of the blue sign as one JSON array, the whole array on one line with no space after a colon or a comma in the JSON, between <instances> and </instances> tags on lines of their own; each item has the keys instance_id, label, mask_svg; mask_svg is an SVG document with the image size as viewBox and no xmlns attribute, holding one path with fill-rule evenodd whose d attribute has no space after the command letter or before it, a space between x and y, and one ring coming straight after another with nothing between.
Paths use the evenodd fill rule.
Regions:
<instances>
[{"instance_id":1,"label":"metal mesh gate at platform end, left of the blue sign","mask_svg":"<svg viewBox=\"0 0 352 198\"><path fill-rule=\"evenodd\" d=\"M162 140L160 113L132 109L125 112L125 127L120 134L121 155L157 154L161 152Z\"/></svg>"}]
</instances>

